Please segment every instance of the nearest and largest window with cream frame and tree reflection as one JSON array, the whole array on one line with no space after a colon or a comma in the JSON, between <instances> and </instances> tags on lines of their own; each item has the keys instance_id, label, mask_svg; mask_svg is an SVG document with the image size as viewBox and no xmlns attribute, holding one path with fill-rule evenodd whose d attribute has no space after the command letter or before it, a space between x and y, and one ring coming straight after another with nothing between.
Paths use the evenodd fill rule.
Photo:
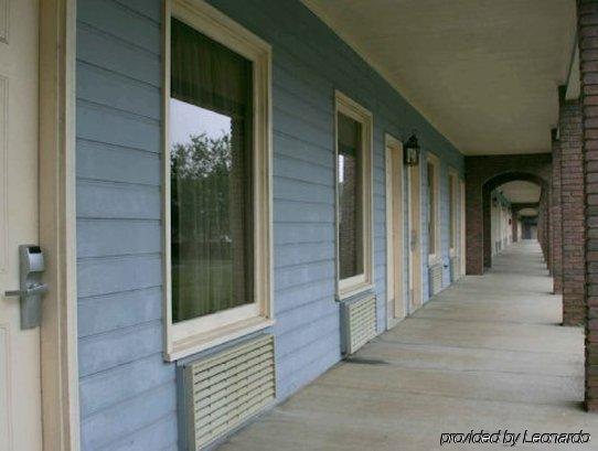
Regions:
<instances>
[{"instance_id":1,"label":"nearest and largest window with cream frame and tree reflection","mask_svg":"<svg viewBox=\"0 0 598 451\"><path fill-rule=\"evenodd\" d=\"M171 3L165 53L167 353L271 323L269 46Z\"/></svg>"}]
</instances>

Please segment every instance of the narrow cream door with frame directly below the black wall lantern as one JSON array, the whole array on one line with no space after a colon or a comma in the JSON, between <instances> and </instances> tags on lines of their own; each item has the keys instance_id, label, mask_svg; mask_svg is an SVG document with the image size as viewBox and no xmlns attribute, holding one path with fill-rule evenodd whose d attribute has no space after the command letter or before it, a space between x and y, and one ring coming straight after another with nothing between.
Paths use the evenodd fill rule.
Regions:
<instances>
[{"instance_id":1,"label":"narrow cream door with frame directly below the black wall lantern","mask_svg":"<svg viewBox=\"0 0 598 451\"><path fill-rule=\"evenodd\" d=\"M409 277L408 309L412 314L424 304L424 286L421 280L421 164L407 169L408 230L409 230ZM416 236L415 247L413 237Z\"/></svg>"}]
</instances>

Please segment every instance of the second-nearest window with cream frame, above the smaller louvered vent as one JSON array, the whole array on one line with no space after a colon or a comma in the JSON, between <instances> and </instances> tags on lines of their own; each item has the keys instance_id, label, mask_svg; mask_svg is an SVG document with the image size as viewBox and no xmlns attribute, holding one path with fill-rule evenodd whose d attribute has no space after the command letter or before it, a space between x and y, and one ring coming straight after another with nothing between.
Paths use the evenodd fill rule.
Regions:
<instances>
[{"instance_id":1,"label":"second-nearest window with cream frame, above the smaller louvered vent","mask_svg":"<svg viewBox=\"0 0 598 451\"><path fill-rule=\"evenodd\" d=\"M339 298L372 283L372 116L337 93Z\"/></svg>"}]
</instances>

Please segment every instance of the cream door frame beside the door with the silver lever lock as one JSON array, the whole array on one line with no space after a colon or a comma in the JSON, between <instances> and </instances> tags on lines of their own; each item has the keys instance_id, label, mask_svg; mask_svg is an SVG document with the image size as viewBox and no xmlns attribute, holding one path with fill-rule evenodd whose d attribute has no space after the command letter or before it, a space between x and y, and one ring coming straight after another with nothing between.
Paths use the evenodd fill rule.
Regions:
<instances>
[{"instance_id":1,"label":"cream door frame beside the door with the silver lever lock","mask_svg":"<svg viewBox=\"0 0 598 451\"><path fill-rule=\"evenodd\" d=\"M40 245L46 255L41 382L44 450L79 449L75 212L76 0L40 1Z\"/></svg>"}]
</instances>

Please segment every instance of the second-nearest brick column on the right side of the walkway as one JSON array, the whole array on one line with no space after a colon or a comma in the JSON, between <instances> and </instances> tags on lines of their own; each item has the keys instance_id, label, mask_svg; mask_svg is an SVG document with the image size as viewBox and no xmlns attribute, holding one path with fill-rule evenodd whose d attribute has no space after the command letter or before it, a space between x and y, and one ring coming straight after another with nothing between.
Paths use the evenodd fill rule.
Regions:
<instances>
[{"instance_id":1,"label":"second-nearest brick column on the right side of the walkway","mask_svg":"<svg viewBox=\"0 0 598 451\"><path fill-rule=\"evenodd\" d=\"M560 103L560 208L563 217L563 324L585 322L585 218L581 108Z\"/></svg>"}]
</instances>

